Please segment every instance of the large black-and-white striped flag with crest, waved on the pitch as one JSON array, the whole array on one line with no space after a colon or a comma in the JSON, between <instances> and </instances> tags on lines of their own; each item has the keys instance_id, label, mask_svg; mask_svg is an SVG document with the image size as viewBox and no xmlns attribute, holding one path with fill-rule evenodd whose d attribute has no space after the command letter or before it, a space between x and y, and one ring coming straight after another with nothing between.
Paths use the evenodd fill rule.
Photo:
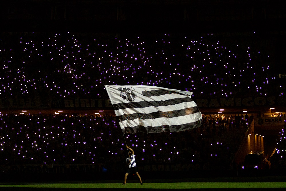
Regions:
<instances>
[{"instance_id":1,"label":"large black-and-white striped flag with crest, waved on the pitch","mask_svg":"<svg viewBox=\"0 0 286 191\"><path fill-rule=\"evenodd\" d=\"M146 85L105 85L124 133L176 132L201 126L192 92Z\"/></svg>"}]
</instances>

